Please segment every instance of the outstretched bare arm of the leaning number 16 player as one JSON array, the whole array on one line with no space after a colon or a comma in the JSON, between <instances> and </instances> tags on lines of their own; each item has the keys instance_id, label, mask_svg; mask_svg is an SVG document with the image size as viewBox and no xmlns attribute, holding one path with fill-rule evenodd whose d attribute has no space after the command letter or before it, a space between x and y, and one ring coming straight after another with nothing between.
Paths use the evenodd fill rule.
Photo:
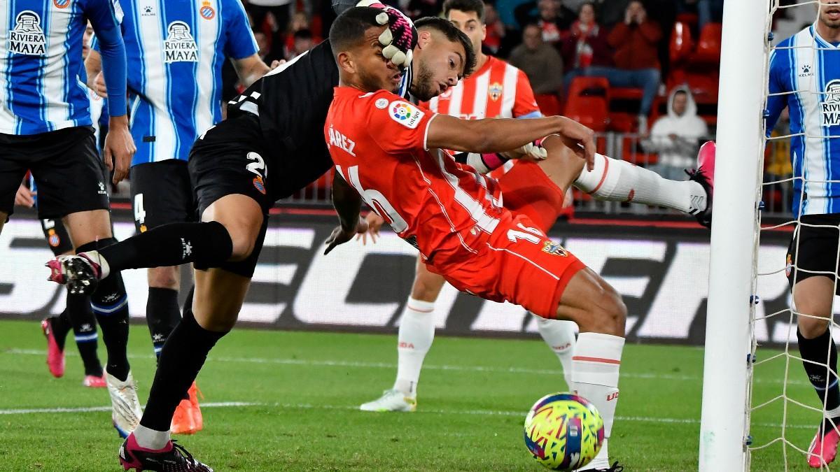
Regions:
<instances>
[{"instance_id":1,"label":"outstretched bare arm of the leaning number 16 player","mask_svg":"<svg viewBox=\"0 0 840 472\"><path fill-rule=\"evenodd\" d=\"M595 159L595 134L590 128L565 117L463 120L437 115L428 126L427 145L477 153L504 152L549 134L559 134L572 149L582 148L579 155L591 169Z\"/></svg>"}]
</instances>

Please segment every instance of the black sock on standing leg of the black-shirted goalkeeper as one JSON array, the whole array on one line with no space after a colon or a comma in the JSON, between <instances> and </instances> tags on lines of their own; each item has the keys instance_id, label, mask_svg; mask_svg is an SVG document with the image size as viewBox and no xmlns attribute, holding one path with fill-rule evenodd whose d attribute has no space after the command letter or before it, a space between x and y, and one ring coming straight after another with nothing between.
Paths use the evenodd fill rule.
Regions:
<instances>
[{"instance_id":1,"label":"black sock on standing leg of the black-shirted goalkeeper","mask_svg":"<svg viewBox=\"0 0 840 472\"><path fill-rule=\"evenodd\" d=\"M155 381L140 424L155 431L169 431L172 415L186 395L207 353L225 334L202 328L192 317L192 291L187 296L181 323L172 331L160 352Z\"/></svg>"}]
</instances>

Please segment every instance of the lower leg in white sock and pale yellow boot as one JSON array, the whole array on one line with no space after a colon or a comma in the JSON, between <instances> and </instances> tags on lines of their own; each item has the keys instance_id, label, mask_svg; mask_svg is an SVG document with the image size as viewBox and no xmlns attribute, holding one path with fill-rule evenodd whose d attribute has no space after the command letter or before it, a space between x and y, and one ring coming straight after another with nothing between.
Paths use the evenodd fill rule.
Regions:
<instances>
[{"instance_id":1,"label":"lower leg in white sock and pale yellow boot","mask_svg":"<svg viewBox=\"0 0 840 472\"><path fill-rule=\"evenodd\" d=\"M434 340L434 302L444 288L444 277L430 272L417 256L412 293L400 318L396 344L396 380L391 390L362 404L365 412L413 412L423 359Z\"/></svg>"}]
</instances>

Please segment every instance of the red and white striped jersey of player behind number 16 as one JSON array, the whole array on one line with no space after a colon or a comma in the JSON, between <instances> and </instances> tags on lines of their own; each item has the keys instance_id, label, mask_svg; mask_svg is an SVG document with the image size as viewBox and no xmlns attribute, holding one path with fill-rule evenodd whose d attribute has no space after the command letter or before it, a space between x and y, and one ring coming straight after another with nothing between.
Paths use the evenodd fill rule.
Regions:
<instances>
[{"instance_id":1,"label":"red and white striped jersey of player behind number 16","mask_svg":"<svg viewBox=\"0 0 840 472\"><path fill-rule=\"evenodd\" d=\"M491 55L478 71L423 106L464 119L542 116L525 72Z\"/></svg>"}]
</instances>

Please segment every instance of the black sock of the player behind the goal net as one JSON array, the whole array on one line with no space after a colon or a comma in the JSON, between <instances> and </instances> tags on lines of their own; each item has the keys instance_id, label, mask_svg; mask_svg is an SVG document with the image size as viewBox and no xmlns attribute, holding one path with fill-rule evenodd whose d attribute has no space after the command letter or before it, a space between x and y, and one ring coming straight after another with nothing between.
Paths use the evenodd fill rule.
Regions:
<instances>
[{"instance_id":1,"label":"black sock of the player behind the goal net","mask_svg":"<svg viewBox=\"0 0 840 472\"><path fill-rule=\"evenodd\" d=\"M802 364L816 395L820 397L820 403L825 401L826 410L837 408L840 406L840 385L837 385L837 375L833 373L837 372L837 346L831 330L826 328L826 332L816 338L806 339L797 329L796 338L799 338L799 352L804 359Z\"/></svg>"}]
</instances>

